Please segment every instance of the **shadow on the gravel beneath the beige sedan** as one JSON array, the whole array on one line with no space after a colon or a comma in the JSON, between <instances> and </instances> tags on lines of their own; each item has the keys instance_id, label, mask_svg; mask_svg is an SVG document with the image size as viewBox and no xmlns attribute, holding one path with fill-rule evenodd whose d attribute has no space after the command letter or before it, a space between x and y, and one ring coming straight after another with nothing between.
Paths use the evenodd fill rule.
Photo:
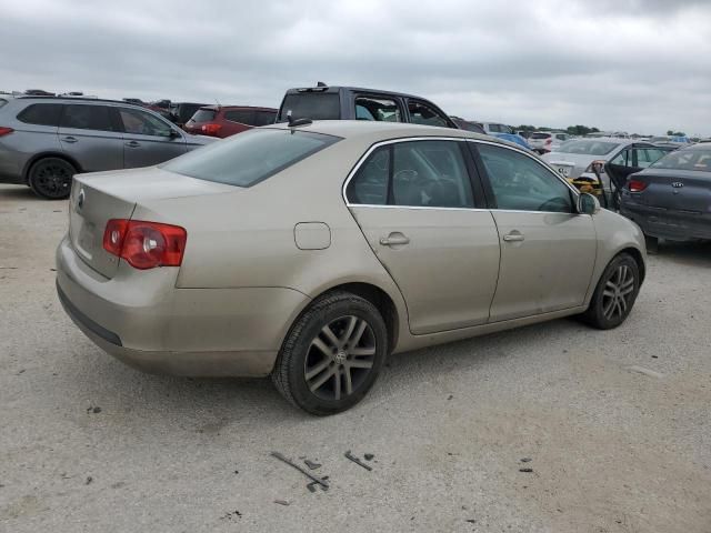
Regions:
<instances>
[{"instance_id":1,"label":"shadow on the gravel beneath the beige sedan","mask_svg":"<svg viewBox=\"0 0 711 533\"><path fill-rule=\"evenodd\" d=\"M424 385L461 372L477 375L478 370L490 364L520 356L517 353L521 345L544 342L547 335L542 330L557 330L557 336L571 339L581 329L587 330L577 321L557 320L391 355L378 383L365 399L354 409L337 416L364 416L389 399L407 393L418 382ZM91 373L101 375L101 379L77 385L86 389L82 395L87 398L101 396L103 400L98 401L113 403L116 410L124 413L121 419L127 423L130 423L128 419L181 420L183 428L191 428L197 433L216 433L230 423L264 426L328 420L291 406L277 392L270 379L152 375L124 366L104 353L92 355L96 356L90 356L91 365L96 368ZM162 422L154 420L154 423Z\"/></svg>"}]
</instances>

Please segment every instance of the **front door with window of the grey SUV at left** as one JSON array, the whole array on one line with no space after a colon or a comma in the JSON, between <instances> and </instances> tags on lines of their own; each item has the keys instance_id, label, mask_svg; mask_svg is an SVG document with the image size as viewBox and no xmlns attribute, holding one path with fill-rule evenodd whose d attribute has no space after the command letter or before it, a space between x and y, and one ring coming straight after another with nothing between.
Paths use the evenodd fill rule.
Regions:
<instances>
[{"instance_id":1,"label":"front door with window of the grey SUV at left","mask_svg":"<svg viewBox=\"0 0 711 533\"><path fill-rule=\"evenodd\" d=\"M116 108L123 129L123 168L150 167L188 151L183 133L134 108Z\"/></svg>"}]
</instances>

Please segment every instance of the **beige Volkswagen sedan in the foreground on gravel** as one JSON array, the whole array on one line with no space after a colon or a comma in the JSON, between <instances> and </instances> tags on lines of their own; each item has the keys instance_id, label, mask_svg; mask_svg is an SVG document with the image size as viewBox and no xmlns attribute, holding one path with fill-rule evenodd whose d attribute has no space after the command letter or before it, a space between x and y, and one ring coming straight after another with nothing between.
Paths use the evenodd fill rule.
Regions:
<instances>
[{"instance_id":1,"label":"beige Volkswagen sedan in the foreground on gravel","mask_svg":"<svg viewBox=\"0 0 711 533\"><path fill-rule=\"evenodd\" d=\"M150 169L78 175L59 299L149 372L270 375L343 411L385 358L579 314L620 325L631 221L518 145L392 122L257 128Z\"/></svg>"}]
</instances>

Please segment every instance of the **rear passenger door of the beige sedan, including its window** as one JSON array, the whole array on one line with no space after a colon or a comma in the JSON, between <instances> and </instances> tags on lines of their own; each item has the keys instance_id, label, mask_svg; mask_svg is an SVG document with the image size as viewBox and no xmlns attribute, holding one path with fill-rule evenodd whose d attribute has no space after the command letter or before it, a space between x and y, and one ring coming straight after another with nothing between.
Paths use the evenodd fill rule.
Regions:
<instances>
[{"instance_id":1,"label":"rear passenger door of the beige sedan, including its window","mask_svg":"<svg viewBox=\"0 0 711 533\"><path fill-rule=\"evenodd\" d=\"M347 185L349 208L398 284L414 334L489 320L499 238L491 212L477 209L483 198L472 192L468 158L462 141L389 143Z\"/></svg>"}]
</instances>

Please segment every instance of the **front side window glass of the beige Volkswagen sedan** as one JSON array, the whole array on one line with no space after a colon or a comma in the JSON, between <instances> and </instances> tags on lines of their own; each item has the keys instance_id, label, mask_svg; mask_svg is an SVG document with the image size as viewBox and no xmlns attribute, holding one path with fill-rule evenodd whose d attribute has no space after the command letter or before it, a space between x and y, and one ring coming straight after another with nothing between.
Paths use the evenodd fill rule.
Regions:
<instances>
[{"instance_id":1,"label":"front side window glass of the beige Volkswagen sedan","mask_svg":"<svg viewBox=\"0 0 711 533\"><path fill-rule=\"evenodd\" d=\"M571 213L571 191L534 159L507 148L477 144L498 209Z\"/></svg>"}]
</instances>

